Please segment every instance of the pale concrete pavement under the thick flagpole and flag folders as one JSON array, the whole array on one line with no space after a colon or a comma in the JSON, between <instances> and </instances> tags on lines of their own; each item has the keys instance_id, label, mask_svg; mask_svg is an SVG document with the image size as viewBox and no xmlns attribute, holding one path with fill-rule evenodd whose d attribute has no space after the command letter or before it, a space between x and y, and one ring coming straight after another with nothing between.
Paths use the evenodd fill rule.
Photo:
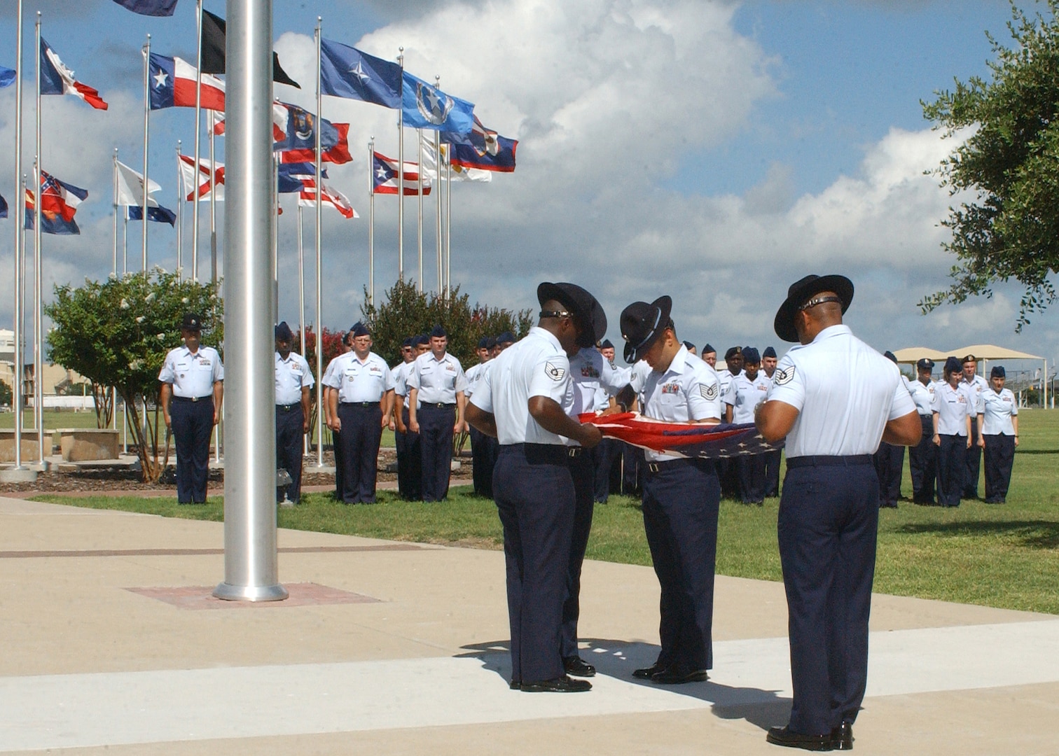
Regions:
<instances>
[{"instance_id":1,"label":"pale concrete pavement under the thick flagpole and flag folders","mask_svg":"<svg viewBox=\"0 0 1059 756\"><path fill-rule=\"evenodd\" d=\"M503 555L280 532L287 601L217 601L222 525L0 499L0 753L782 754L779 583L718 578L711 681L648 568L587 562L586 695L507 689ZM862 754L1055 754L1059 617L876 595Z\"/></svg>"}]
</instances>

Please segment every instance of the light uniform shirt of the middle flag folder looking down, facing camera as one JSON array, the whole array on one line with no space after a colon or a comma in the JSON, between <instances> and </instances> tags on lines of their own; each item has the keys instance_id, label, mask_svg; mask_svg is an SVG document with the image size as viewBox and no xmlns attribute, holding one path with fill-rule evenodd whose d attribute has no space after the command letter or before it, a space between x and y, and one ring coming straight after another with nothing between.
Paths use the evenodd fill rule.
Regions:
<instances>
[{"instance_id":1,"label":"light uniform shirt of the middle flag folder looking down, facing camera","mask_svg":"<svg viewBox=\"0 0 1059 756\"><path fill-rule=\"evenodd\" d=\"M645 363L646 364L646 363ZM713 367L681 346L665 373L652 370L644 384L641 414L654 420L688 422L721 418L721 393ZM648 462L680 460L677 454L644 450Z\"/></svg>"}]
</instances>

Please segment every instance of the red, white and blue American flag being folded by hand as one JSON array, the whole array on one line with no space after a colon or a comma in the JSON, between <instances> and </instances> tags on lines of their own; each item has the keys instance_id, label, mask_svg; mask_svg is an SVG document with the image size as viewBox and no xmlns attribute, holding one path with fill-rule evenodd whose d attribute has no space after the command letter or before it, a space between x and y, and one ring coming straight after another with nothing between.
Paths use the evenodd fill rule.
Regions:
<instances>
[{"instance_id":1,"label":"red, white and blue American flag being folded by hand","mask_svg":"<svg viewBox=\"0 0 1059 756\"><path fill-rule=\"evenodd\" d=\"M782 449L784 443L770 444L752 422L707 426L698 422L662 422L638 412L613 415L586 413L578 418L591 422L607 437L666 454L700 460L717 460L744 454L764 454Z\"/></svg>"}]
</instances>

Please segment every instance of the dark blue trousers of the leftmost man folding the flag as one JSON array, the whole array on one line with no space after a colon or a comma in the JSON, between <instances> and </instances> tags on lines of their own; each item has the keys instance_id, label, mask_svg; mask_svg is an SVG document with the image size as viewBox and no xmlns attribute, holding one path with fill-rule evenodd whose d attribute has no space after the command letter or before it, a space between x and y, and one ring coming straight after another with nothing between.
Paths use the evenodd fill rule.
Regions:
<instances>
[{"instance_id":1,"label":"dark blue trousers of the leftmost man folding the flag","mask_svg":"<svg viewBox=\"0 0 1059 756\"><path fill-rule=\"evenodd\" d=\"M559 636L575 506L566 447L501 446L492 484L504 528L511 680L561 678Z\"/></svg>"}]
</instances>

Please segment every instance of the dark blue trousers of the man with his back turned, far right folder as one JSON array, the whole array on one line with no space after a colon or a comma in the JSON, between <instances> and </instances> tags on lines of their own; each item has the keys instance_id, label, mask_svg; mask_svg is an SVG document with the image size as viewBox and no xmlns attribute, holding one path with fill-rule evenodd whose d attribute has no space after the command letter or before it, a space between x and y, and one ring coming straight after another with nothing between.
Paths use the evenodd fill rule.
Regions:
<instances>
[{"instance_id":1,"label":"dark blue trousers of the man with his back turned, far right folder","mask_svg":"<svg viewBox=\"0 0 1059 756\"><path fill-rule=\"evenodd\" d=\"M857 719L867 683L878 525L879 482L869 454L787 460L777 529L792 732L824 735Z\"/></svg>"}]
</instances>

